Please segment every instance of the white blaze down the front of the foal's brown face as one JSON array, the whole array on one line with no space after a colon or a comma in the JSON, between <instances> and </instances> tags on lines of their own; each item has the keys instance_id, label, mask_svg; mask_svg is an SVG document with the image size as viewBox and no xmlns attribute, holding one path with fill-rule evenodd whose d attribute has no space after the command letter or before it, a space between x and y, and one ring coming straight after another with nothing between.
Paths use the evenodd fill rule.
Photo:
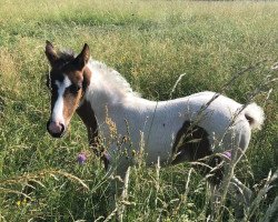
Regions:
<instances>
[{"instance_id":1,"label":"white blaze down the front of the foal's brown face","mask_svg":"<svg viewBox=\"0 0 278 222\"><path fill-rule=\"evenodd\" d=\"M64 118L63 118L63 93L66 91L66 88L71 85L71 81L68 77L64 75L64 79L62 82L59 82L56 80L56 85L58 88L58 98L53 107L52 111L52 121L59 122L64 124Z\"/></svg>"}]
</instances>

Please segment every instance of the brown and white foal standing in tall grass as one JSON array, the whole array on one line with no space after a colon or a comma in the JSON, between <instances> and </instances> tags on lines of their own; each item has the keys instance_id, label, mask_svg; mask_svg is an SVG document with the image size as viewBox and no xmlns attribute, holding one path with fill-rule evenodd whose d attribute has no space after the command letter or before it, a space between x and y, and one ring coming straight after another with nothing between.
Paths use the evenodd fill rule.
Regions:
<instances>
[{"instance_id":1,"label":"brown and white foal standing in tall grass","mask_svg":"<svg viewBox=\"0 0 278 222\"><path fill-rule=\"evenodd\" d=\"M201 160L211 168L224 160L239 160L248 147L251 130L260 129L264 122L264 112L257 104L242 105L215 92L159 102L142 99L117 71L91 60L88 44L75 57L57 52L47 41L46 56L51 65L49 133L61 138L77 111L87 127L89 143L106 169L117 165L121 176L132 162L132 153L140 151L142 141L148 165L158 158L163 164ZM119 140L110 140L113 133L123 141L120 145ZM106 150L97 150L97 138L105 140ZM119 155L123 150L126 154ZM210 170L206 168L202 172ZM214 172L209 181L220 184L224 168L218 167ZM248 201L251 191L232 180Z\"/></svg>"}]
</instances>

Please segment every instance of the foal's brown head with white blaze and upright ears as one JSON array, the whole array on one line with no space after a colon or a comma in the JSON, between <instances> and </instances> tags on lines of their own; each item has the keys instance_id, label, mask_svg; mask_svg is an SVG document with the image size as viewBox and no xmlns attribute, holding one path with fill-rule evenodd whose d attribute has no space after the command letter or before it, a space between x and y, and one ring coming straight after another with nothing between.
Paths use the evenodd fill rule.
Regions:
<instances>
[{"instance_id":1,"label":"foal's brown head with white blaze and upright ears","mask_svg":"<svg viewBox=\"0 0 278 222\"><path fill-rule=\"evenodd\" d=\"M61 138L89 85L90 73L86 64L89 60L89 47L85 44L81 53L75 58L58 56L53 46L47 41L46 54L51 64L48 87L51 91L51 115L47 123L48 132Z\"/></svg>"}]
</instances>

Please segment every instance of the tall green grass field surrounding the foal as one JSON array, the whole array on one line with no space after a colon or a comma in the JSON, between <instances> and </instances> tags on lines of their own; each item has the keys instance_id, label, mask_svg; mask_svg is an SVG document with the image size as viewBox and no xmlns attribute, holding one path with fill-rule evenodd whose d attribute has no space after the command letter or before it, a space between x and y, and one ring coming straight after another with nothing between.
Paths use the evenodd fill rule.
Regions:
<instances>
[{"instance_id":1,"label":"tall green grass field surrounding the foal","mask_svg":"<svg viewBox=\"0 0 278 222\"><path fill-rule=\"evenodd\" d=\"M150 100L211 90L240 103L256 101L266 122L252 133L235 172L256 198L242 221L277 221L278 189L267 194L266 189L278 169L278 2L0 4L0 221L116 220L112 179L89 149L78 117L61 140L46 130L46 40L76 52L87 42L93 59L118 70ZM85 164L77 162L80 152L88 157ZM191 164L159 169L139 161L128 182L119 201L126 205L123 221L206 221L210 192ZM225 201L219 221L236 220L231 201Z\"/></svg>"}]
</instances>

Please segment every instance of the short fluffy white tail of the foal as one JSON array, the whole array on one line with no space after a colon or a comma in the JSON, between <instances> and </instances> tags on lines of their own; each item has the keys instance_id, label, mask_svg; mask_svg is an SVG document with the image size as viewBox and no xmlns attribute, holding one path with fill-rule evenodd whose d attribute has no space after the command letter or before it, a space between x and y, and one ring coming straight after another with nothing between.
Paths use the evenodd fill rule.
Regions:
<instances>
[{"instance_id":1,"label":"short fluffy white tail of the foal","mask_svg":"<svg viewBox=\"0 0 278 222\"><path fill-rule=\"evenodd\" d=\"M251 130L260 130L265 121L265 113L261 107L256 103L248 104L244 110L245 118L249 122Z\"/></svg>"}]
</instances>

